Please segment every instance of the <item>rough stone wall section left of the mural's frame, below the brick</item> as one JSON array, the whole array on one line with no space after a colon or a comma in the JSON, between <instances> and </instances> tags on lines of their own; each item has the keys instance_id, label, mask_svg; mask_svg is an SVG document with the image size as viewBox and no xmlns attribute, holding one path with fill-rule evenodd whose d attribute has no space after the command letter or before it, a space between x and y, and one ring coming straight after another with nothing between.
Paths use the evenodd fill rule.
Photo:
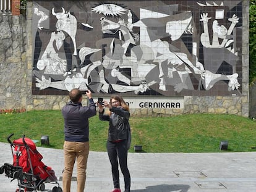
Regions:
<instances>
[{"instance_id":1,"label":"rough stone wall section left of the mural's frame, below the brick","mask_svg":"<svg viewBox=\"0 0 256 192\"><path fill-rule=\"evenodd\" d=\"M27 106L27 31L23 16L0 15L0 108Z\"/></svg>"}]
</instances>

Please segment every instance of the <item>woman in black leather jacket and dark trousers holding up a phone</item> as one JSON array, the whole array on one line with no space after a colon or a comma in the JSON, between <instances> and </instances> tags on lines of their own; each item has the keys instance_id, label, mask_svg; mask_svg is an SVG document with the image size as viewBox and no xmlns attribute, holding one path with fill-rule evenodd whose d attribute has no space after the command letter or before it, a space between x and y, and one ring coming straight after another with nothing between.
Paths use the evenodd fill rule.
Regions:
<instances>
[{"instance_id":1,"label":"woman in black leather jacket and dark trousers holding up a phone","mask_svg":"<svg viewBox=\"0 0 256 192\"><path fill-rule=\"evenodd\" d=\"M124 175L124 192L130 192L130 172L127 167L127 154L129 149L129 139L127 139L129 125L129 106L127 106L121 96L111 96L110 102L98 103L100 120L109 121L108 141L106 148L109 161L111 163L114 190L111 192L121 192L119 182L118 161ZM104 114L104 108L109 108L109 114ZM118 160L117 160L118 158Z\"/></svg>"}]
</instances>

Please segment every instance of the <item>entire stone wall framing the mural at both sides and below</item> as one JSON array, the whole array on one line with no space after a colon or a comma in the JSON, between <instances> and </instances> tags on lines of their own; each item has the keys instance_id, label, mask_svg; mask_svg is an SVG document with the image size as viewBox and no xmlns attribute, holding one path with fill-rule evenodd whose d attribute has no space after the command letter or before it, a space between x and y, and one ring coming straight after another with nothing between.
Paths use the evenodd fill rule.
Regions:
<instances>
[{"instance_id":1,"label":"entire stone wall framing the mural at both sides and below","mask_svg":"<svg viewBox=\"0 0 256 192\"><path fill-rule=\"evenodd\" d=\"M23 15L0 15L0 109L61 109L66 95L32 94L32 6ZM249 1L243 1L242 91L234 96L183 96L184 109L131 109L132 115L236 114L249 117ZM83 104L87 104L85 98ZM251 107L252 108L252 107ZM254 113L255 114L255 113Z\"/></svg>"}]
</instances>

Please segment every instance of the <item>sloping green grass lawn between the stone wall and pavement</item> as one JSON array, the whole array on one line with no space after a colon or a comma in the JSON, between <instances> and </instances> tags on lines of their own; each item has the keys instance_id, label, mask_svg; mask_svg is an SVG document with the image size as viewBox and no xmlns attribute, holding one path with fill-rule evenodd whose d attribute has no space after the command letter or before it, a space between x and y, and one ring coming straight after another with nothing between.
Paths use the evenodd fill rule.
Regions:
<instances>
[{"instance_id":1,"label":"sloping green grass lawn between the stone wall and pavement","mask_svg":"<svg viewBox=\"0 0 256 192\"><path fill-rule=\"evenodd\" d=\"M25 135L39 140L49 136L48 148L62 149L64 140L61 111L29 111L0 115L0 142L7 143ZM256 121L237 115L192 114L173 117L130 117L132 144L142 145L144 152L241 152L256 151ZM108 122L90 119L90 151L106 151ZM228 140L228 151L219 149Z\"/></svg>"}]
</instances>

